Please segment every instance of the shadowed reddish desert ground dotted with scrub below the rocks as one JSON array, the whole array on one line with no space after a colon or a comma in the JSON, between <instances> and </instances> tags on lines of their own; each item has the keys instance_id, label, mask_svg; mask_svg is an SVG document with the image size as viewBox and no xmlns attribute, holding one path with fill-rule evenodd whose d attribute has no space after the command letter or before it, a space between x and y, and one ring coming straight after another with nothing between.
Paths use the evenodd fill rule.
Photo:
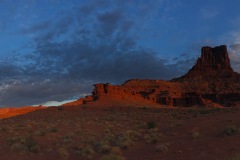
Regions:
<instances>
[{"instance_id":1,"label":"shadowed reddish desert ground dotted with scrub below the rocks","mask_svg":"<svg viewBox=\"0 0 240 160\"><path fill-rule=\"evenodd\" d=\"M0 120L1 160L236 160L239 108L36 110Z\"/></svg>"}]
</instances>

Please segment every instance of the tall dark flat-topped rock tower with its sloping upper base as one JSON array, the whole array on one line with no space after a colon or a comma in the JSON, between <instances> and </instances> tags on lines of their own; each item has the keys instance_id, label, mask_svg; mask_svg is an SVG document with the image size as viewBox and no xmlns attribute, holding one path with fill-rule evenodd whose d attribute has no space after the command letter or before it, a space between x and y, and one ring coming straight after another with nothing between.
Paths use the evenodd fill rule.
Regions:
<instances>
[{"instance_id":1,"label":"tall dark flat-topped rock tower with its sloping upper base","mask_svg":"<svg viewBox=\"0 0 240 160\"><path fill-rule=\"evenodd\" d=\"M175 78L171 81L199 81L199 82L215 82L226 81L229 78L237 82L240 75L233 71L228 56L227 46L221 45L217 47L202 47L201 57L197 59L195 65L187 74Z\"/></svg>"}]
</instances>

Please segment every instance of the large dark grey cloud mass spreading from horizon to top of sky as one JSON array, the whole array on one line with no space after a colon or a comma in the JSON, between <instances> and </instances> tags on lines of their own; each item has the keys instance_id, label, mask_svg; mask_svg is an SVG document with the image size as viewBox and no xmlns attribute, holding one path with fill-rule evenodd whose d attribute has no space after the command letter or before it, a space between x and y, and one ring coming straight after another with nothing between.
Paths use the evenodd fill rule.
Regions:
<instances>
[{"instance_id":1,"label":"large dark grey cloud mass spreading from horizon to top of sky","mask_svg":"<svg viewBox=\"0 0 240 160\"><path fill-rule=\"evenodd\" d=\"M0 86L4 93L0 106L63 101L90 93L94 83L121 84L131 78L171 79L188 69L192 59L186 55L169 63L156 51L138 44L134 30L141 18L125 13L130 2L119 7L104 2L109 1L76 7L54 22L42 22L22 32L34 34L33 51L22 55L24 64L0 65L0 75L8 74L11 79ZM148 13L151 10L144 16Z\"/></svg>"}]
</instances>

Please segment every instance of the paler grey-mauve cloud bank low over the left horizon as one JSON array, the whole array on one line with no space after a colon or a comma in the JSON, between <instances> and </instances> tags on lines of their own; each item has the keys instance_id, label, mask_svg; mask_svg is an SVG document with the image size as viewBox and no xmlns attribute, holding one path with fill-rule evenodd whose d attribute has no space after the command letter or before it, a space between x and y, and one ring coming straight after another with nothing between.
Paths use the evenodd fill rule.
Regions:
<instances>
[{"instance_id":1,"label":"paler grey-mauve cloud bank low over the left horizon","mask_svg":"<svg viewBox=\"0 0 240 160\"><path fill-rule=\"evenodd\" d=\"M82 93L89 93L91 89L91 83L71 79L18 80L0 86L0 106L13 107L41 104L51 100L72 100L79 98Z\"/></svg>"}]
</instances>

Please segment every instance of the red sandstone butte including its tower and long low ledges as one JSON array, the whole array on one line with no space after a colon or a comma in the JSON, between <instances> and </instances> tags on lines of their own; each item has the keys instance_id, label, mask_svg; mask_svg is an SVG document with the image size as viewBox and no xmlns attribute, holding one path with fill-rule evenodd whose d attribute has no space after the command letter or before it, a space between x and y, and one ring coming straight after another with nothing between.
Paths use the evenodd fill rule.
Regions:
<instances>
[{"instance_id":1,"label":"red sandstone butte including its tower and long low ledges","mask_svg":"<svg viewBox=\"0 0 240 160\"><path fill-rule=\"evenodd\" d=\"M233 71L226 45L203 47L185 75L169 81L127 80L122 85L95 84L92 95L63 106L228 107L240 104L240 74Z\"/></svg>"}]
</instances>

